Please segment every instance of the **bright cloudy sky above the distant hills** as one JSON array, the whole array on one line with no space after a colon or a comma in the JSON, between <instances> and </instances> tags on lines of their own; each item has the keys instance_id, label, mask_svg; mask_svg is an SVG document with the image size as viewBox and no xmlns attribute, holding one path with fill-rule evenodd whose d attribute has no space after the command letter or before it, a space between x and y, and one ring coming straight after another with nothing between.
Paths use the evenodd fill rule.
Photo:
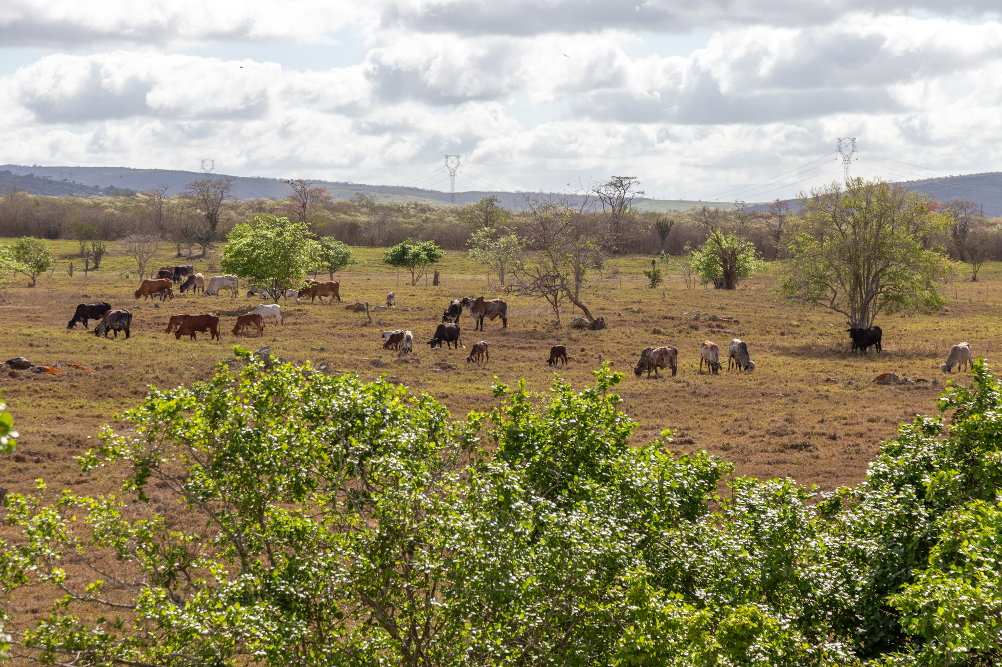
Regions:
<instances>
[{"instance_id":1,"label":"bright cloudy sky above the distant hills","mask_svg":"<svg viewBox=\"0 0 1002 667\"><path fill-rule=\"evenodd\" d=\"M790 198L1002 171L997 0L4 0L0 163Z\"/></svg>"}]
</instances>

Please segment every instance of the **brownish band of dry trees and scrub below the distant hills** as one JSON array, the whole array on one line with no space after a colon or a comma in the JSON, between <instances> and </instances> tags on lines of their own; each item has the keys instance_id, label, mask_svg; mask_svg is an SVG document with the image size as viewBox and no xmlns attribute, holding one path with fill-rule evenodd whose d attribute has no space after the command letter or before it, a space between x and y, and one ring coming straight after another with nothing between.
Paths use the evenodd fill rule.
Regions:
<instances>
[{"instance_id":1,"label":"brownish band of dry trees and scrub below the distant hills","mask_svg":"<svg viewBox=\"0 0 1002 667\"><path fill-rule=\"evenodd\" d=\"M16 186L0 198L0 236L36 236L46 239L114 241L133 234L155 235L189 254L196 244L222 241L235 225L258 214L286 216L308 224L318 236L330 236L348 245L394 246L406 239L435 241L447 250L469 248L471 234L488 227L506 227L516 233L541 205L574 211L581 235L602 238L610 254L681 255L705 241L710 227L728 229L752 242L763 259L786 257L784 232L796 211L778 202L766 211L738 207L730 211L693 208L684 213L641 212L631 207L635 179L614 177L583 200L545 202L527 194L515 210L498 207L487 197L466 206L436 206L425 202L378 203L363 193L350 200L333 200L321 188L290 181L286 199L238 200L231 197L227 177L205 178L189 185L185 194L164 197L162 189L118 196L47 197L29 195ZM619 179L618 181L616 179ZM201 184L201 190L198 184ZM214 203L213 203L214 202ZM210 211L208 209L212 209ZM990 260L1002 260L1002 219L979 217L974 202L932 203L952 220L950 232L930 243L946 248L953 259L966 261L968 246L977 244Z\"/></svg>"}]
</instances>

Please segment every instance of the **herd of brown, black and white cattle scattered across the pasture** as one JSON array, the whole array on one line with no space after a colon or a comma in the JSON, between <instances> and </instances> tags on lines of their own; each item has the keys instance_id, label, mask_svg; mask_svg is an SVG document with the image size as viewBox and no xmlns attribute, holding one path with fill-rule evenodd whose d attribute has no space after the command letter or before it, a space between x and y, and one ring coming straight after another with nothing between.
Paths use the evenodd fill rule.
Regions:
<instances>
[{"instance_id":1,"label":"herd of brown, black and white cattle scattered across the pasture","mask_svg":"<svg viewBox=\"0 0 1002 667\"><path fill-rule=\"evenodd\" d=\"M143 280L139 288L135 290L134 297L136 299L142 297L143 300L160 297L160 301L173 299L173 287L180 284L181 293L191 290L192 294L200 291L202 296L218 296L219 290L229 290L230 298L234 298L237 295L237 282L236 276L214 276L208 279L206 285L205 277L200 273L195 273L193 266L165 266L157 272L156 278ZM306 280L299 290L273 291L264 287L252 287L247 290L246 295L248 297L257 294L274 296L276 301L280 297L287 301L292 298L297 303L300 302L300 299L310 297L310 303L314 303L316 299L320 299L321 304L324 303L324 298L327 297L328 304L330 305L334 303L335 299L339 303L341 302L340 287L340 283L335 280ZM396 305L396 295L393 292L387 295L386 305L388 308L393 308ZM442 343L445 343L449 349L459 349L459 346L462 345L459 318L464 310L474 319L474 331L479 330L482 332L484 330L484 320L493 322L497 317L501 318L502 328L508 327L508 304L503 299L485 299L483 296L476 298L466 296L462 299L453 299L442 313L442 322L436 326L434 335L426 337L428 345L432 349L441 349ZM234 336L249 335L248 330L250 330L255 332L256 336L262 336L265 330L265 318L267 317L274 317L276 324L285 324L281 306L277 303L271 305L262 304L246 314L236 317L232 334ZM125 338L128 339L129 329L132 324L132 313L127 310L112 310L109 303L81 303L76 307L76 312L73 313L73 317L66 328L72 329L77 324L82 324L83 328L87 329L89 320L97 321L97 324L94 325L94 335L96 336L103 334L106 338L108 333L112 332L117 339L118 332L122 331L125 334ZM866 354L867 349L870 347L874 347L878 353L883 350L881 345L883 331L880 327L851 327L846 331L852 340L853 351L861 350L863 354ZM210 340L221 340L219 336L219 318L213 313L172 315L166 328L166 333L171 332L174 334L175 339L180 339L181 336L186 335L191 340L196 340L197 333L208 333ZM403 329L382 331L381 336L383 338L383 349L400 350L401 353L413 351L414 334L410 331ZM463 347L465 348L466 346L463 345ZM546 363L556 366L558 363L563 362L564 365L567 365L568 359L574 360L573 357L567 356L567 348L563 345L554 345L550 348L550 357ZM487 341L482 340L475 343L466 360L478 364L481 361L489 362L490 352ZM706 365L707 371L714 375L721 368L720 352L716 344L712 341L703 341L699 346L700 373L702 373L703 364ZM958 369L963 368L966 371L970 365L971 346L967 343L958 343L950 350L947 360L940 365L940 369L944 373L949 373L956 366ZM651 373L654 374L654 377L660 377L658 374L658 370L660 369L670 369L671 375L674 377L678 372L678 350L670 345L645 348L640 353L640 359L636 365L630 364L630 367L637 377L640 377L643 371L647 371L648 378ZM731 368L745 372L755 370L755 362L752 361L748 355L747 344L738 338L732 339L727 346L727 370L729 371Z\"/></svg>"}]
</instances>

